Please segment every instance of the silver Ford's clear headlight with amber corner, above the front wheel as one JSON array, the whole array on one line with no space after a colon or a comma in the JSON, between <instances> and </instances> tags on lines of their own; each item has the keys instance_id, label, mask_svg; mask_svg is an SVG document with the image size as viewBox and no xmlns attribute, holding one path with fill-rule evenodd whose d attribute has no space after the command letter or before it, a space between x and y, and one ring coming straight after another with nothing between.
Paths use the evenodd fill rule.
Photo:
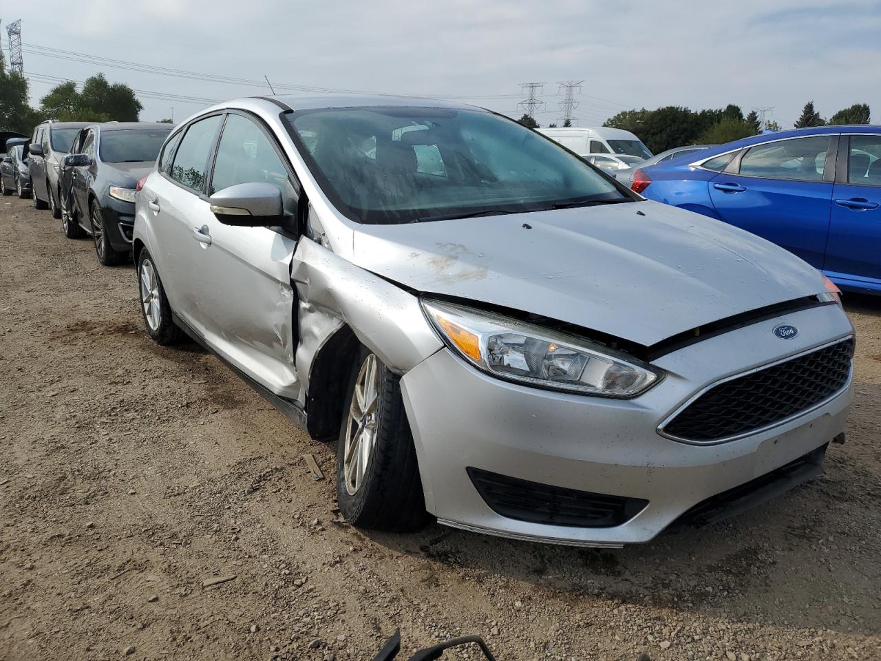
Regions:
<instances>
[{"instance_id":1,"label":"silver Ford's clear headlight with amber corner, above the front wheel","mask_svg":"<svg viewBox=\"0 0 881 661\"><path fill-rule=\"evenodd\" d=\"M539 388L599 397L635 397L661 373L603 345L441 301L423 301L456 353L483 371Z\"/></svg>"}]
</instances>

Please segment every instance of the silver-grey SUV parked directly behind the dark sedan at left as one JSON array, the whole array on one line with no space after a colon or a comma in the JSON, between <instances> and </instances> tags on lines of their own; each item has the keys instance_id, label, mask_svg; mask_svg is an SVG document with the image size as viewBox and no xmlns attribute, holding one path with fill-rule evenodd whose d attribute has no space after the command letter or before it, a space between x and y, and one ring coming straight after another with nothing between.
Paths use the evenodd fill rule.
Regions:
<instances>
[{"instance_id":1,"label":"silver-grey SUV parked directly behind the dark sedan at left","mask_svg":"<svg viewBox=\"0 0 881 661\"><path fill-rule=\"evenodd\" d=\"M50 209L53 218L61 218L61 192L58 174L61 161L85 122L43 122L33 130L30 146L31 193L36 209Z\"/></svg>"}]
</instances>

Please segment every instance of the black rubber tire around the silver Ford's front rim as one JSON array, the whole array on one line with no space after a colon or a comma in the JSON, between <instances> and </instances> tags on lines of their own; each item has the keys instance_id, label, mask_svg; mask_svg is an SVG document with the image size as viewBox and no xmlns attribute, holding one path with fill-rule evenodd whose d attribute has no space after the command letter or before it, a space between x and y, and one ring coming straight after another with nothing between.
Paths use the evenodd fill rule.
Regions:
<instances>
[{"instance_id":1,"label":"black rubber tire around the silver Ford's front rim","mask_svg":"<svg viewBox=\"0 0 881 661\"><path fill-rule=\"evenodd\" d=\"M346 436L355 435L355 429L348 424L349 413L355 384L371 357L379 372L375 440L363 478L352 494L345 476ZM337 503L345 520L359 528L415 531L425 524L427 517L416 448L403 410L400 380L366 347L360 348L345 397L337 449Z\"/></svg>"}]
</instances>

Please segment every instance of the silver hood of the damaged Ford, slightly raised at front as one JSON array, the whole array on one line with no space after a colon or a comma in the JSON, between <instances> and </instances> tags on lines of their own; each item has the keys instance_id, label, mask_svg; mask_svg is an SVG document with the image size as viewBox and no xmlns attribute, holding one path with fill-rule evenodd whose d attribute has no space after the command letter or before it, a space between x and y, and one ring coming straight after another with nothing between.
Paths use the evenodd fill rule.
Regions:
<instances>
[{"instance_id":1,"label":"silver hood of the damaged Ford, slightly raised at front","mask_svg":"<svg viewBox=\"0 0 881 661\"><path fill-rule=\"evenodd\" d=\"M354 261L422 293L483 301L653 345L825 291L809 264L655 202L362 225Z\"/></svg>"}]
</instances>

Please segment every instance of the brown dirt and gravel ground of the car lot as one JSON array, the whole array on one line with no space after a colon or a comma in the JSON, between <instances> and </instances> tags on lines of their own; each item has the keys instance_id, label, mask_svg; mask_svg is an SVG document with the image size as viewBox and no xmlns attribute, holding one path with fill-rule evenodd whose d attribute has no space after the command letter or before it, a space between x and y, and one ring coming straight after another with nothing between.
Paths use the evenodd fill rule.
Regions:
<instances>
[{"instance_id":1,"label":"brown dirt and gravel ground of the car lot","mask_svg":"<svg viewBox=\"0 0 881 661\"><path fill-rule=\"evenodd\" d=\"M824 477L580 550L338 522L334 449L195 345L154 345L131 265L29 200L0 198L0 236L4 661L370 659L397 627L403 652L478 633L500 661L881 658L881 300L846 297L857 397Z\"/></svg>"}]
</instances>

